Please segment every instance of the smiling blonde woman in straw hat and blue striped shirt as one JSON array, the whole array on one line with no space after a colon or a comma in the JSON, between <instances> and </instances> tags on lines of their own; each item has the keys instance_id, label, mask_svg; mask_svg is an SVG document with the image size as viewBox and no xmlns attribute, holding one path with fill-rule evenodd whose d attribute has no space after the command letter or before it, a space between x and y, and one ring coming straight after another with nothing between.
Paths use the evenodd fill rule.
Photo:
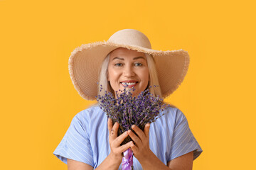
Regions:
<instances>
[{"instance_id":1,"label":"smiling blonde woman in straw hat and blue striped shirt","mask_svg":"<svg viewBox=\"0 0 256 170\"><path fill-rule=\"evenodd\" d=\"M107 56L107 57L106 57ZM153 57L152 57L153 56ZM183 81L188 70L188 53L183 50L151 50L146 35L125 29L114 33L107 42L94 42L76 48L70 56L70 77L85 99L94 100L103 89L114 91L125 85L136 89L137 96L150 85L151 94L166 98ZM100 73L99 73L100 72ZM158 73L157 73L158 72ZM132 126L117 137L118 123L92 106L73 118L70 128L53 154L68 164L68 169L121 169L122 152L131 148L134 169L192 169L193 160L202 152L185 115L175 107L144 130ZM127 136L136 143L120 146Z\"/></svg>"}]
</instances>

